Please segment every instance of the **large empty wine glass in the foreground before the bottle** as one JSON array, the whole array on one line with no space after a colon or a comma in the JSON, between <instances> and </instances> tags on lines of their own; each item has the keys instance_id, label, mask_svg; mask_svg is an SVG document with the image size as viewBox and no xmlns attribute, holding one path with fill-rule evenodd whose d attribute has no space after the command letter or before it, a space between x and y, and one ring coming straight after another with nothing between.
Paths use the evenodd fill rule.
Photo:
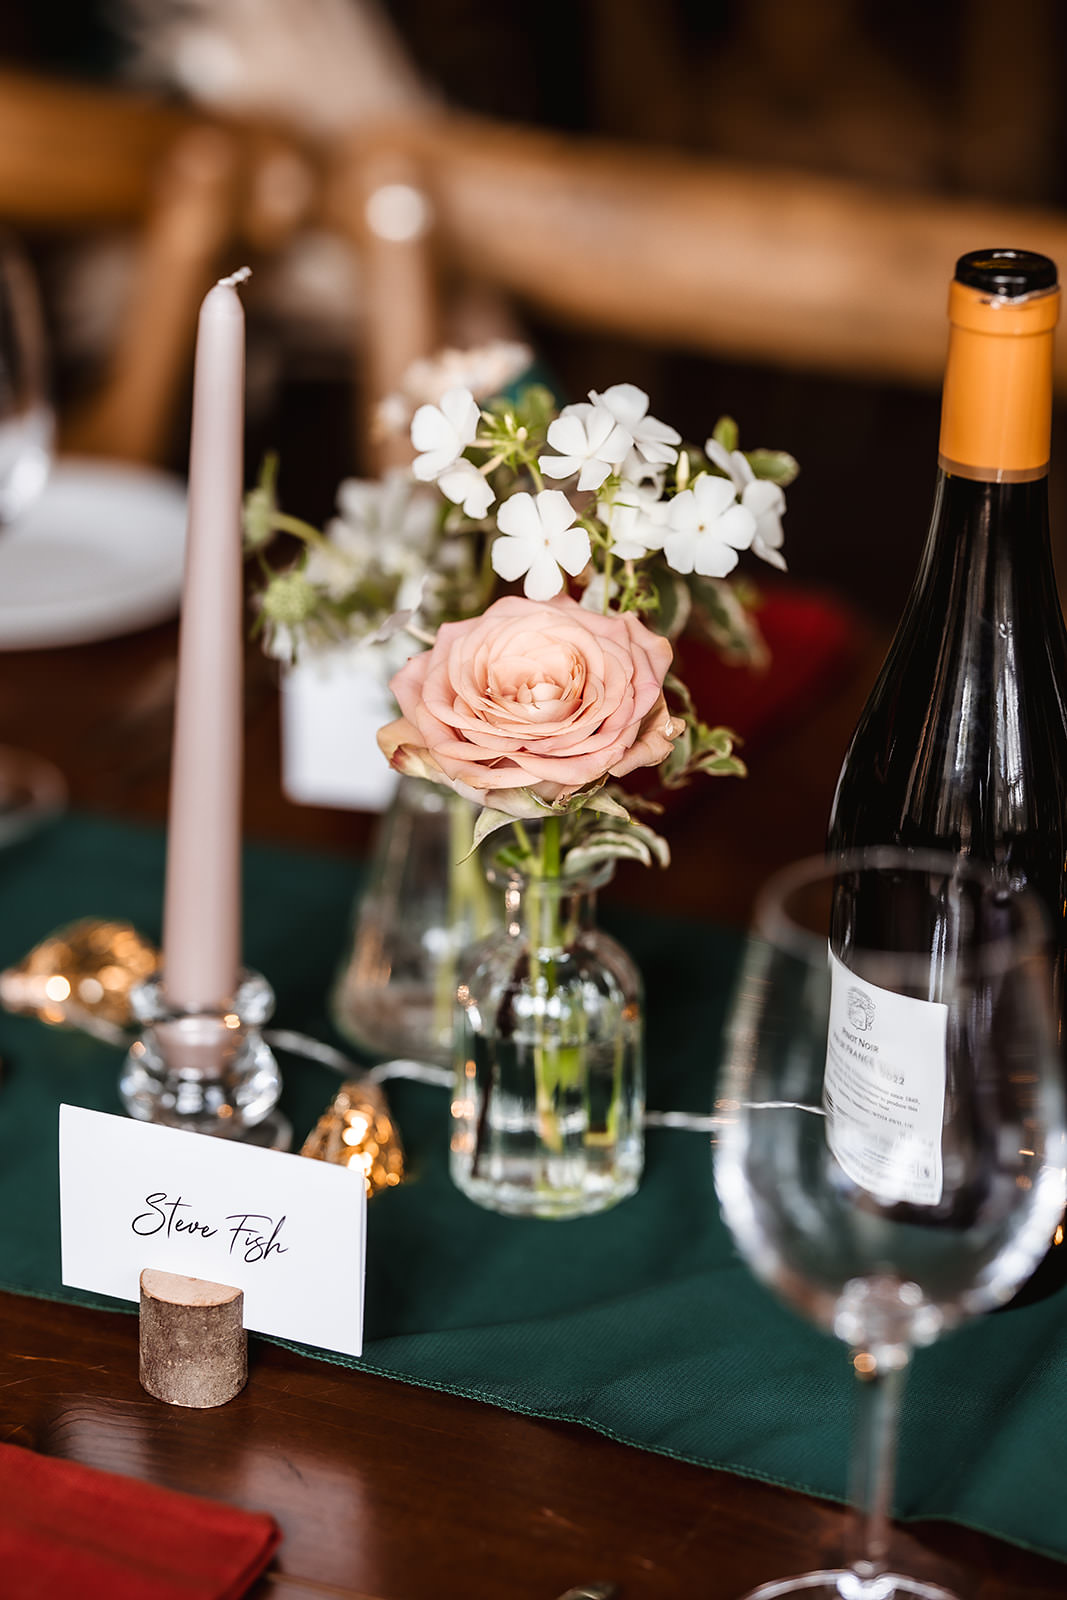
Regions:
<instances>
[{"instance_id":1,"label":"large empty wine glass in the foreground before the bottle","mask_svg":"<svg viewBox=\"0 0 1067 1600\"><path fill-rule=\"evenodd\" d=\"M1006 1304L1064 1211L1051 942L1030 891L878 848L785 869L755 909L715 1184L749 1266L861 1381L851 1566L745 1600L953 1600L888 1568L912 1352Z\"/></svg>"}]
</instances>

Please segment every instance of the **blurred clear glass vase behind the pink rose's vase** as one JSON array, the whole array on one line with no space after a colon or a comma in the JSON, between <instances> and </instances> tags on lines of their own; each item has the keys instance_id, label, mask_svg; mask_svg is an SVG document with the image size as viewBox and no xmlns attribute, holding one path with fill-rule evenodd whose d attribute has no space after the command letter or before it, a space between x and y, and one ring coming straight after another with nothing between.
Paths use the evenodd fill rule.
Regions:
<instances>
[{"instance_id":1,"label":"blurred clear glass vase behind the pink rose's vase","mask_svg":"<svg viewBox=\"0 0 1067 1600\"><path fill-rule=\"evenodd\" d=\"M400 779L382 816L330 997L338 1030L370 1054L451 1062L456 962L501 920L501 896L470 853L475 816L418 778Z\"/></svg>"}]
</instances>

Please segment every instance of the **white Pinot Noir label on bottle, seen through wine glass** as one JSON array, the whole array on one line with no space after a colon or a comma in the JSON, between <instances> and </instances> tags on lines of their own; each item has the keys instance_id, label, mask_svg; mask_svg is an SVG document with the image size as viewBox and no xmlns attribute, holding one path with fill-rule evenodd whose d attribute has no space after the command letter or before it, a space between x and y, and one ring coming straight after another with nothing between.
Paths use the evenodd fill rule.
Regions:
<instances>
[{"instance_id":1,"label":"white Pinot Noir label on bottle, seen through wine glass","mask_svg":"<svg viewBox=\"0 0 1067 1600\"><path fill-rule=\"evenodd\" d=\"M937 1205L949 1006L880 989L829 954L827 1144L881 1205Z\"/></svg>"}]
</instances>

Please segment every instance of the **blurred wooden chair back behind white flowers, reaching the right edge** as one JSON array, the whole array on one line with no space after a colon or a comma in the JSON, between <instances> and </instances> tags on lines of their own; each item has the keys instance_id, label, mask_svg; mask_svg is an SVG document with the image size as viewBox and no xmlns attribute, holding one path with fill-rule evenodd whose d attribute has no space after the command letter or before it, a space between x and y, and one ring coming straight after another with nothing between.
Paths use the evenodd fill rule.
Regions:
<instances>
[{"instance_id":1,"label":"blurred wooden chair back behind white flowers, reaching the right edge","mask_svg":"<svg viewBox=\"0 0 1067 1600\"><path fill-rule=\"evenodd\" d=\"M1017 242L1067 264L1067 218L1049 211L453 115L341 144L326 213L363 261L373 398L440 342L450 274L584 330L934 384L958 254ZM1067 389L1067 341L1056 381Z\"/></svg>"}]
</instances>

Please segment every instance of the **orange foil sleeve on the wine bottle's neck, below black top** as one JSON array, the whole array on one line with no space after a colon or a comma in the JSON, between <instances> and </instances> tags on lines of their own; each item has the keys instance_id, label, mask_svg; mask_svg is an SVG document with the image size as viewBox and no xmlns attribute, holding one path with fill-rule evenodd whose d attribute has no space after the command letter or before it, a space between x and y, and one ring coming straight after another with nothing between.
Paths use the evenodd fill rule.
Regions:
<instances>
[{"instance_id":1,"label":"orange foil sleeve on the wine bottle's neck, below black top","mask_svg":"<svg viewBox=\"0 0 1067 1600\"><path fill-rule=\"evenodd\" d=\"M1048 472L1059 290L1019 302L953 283L939 464L979 483Z\"/></svg>"}]
</instances>

